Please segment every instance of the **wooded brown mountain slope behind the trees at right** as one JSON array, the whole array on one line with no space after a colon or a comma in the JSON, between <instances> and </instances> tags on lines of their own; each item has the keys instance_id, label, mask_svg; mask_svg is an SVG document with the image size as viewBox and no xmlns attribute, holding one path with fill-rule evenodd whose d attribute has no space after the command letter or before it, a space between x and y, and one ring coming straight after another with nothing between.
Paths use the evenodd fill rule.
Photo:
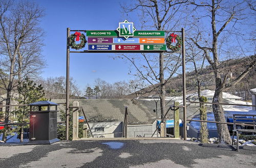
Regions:
<instances>
[{"instance_id":1,"label":"wooded brown mountain slope behind the trees at right","mask_svg":"<svg viewBox=\"0 0 256 168\"><path fill-rule=\"evenodd\" d=\"M219 65L222 77L224 78L225 74L228 74L228 80L232 81L236 79L247 67L248 60L255 59L256 55L250 57L244 57L241 59L230 59L227 61L221 62ZM215 76L214 70L211 66L206 66L202 70L198 70L198 78L201 81L201 89L211 89L215 90ZM187 93L197 92L197 80L196 80L196 71L190 71L186 73L186 90ZM249 90L256 88L256 68L255 66L249 71L249 73L234 87L228 88L225 92L228 92L233 95L243 97L244 100L250 100L251 96L249 95ZM166 96L180 96L182 95L182 75L175 76L171 78L165 85ZM155 90L160 89L160 84L157 83L154 87L148 86L136 93L125 96L125 98L135 98L137 97L147 97L157 94Z\"/></svg>"}]
</instances>

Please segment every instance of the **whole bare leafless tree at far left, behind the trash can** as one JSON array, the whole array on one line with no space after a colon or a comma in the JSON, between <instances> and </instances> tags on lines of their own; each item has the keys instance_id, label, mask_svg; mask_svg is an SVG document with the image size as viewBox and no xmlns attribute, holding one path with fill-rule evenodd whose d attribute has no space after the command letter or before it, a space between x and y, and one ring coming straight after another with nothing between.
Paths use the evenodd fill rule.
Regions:
<instances>
[{"instance_id":1,"label":"whole bare leafless tree at far left, behind the trash can","mask_svg":"<svg viewBox=\"0 0 256 168\"><path fill-rule=\"evenodd\" d=\"M39 55L38 48L41 47L41 43L37 42L39 44L35 49L37 53L35 50L32 51L32 48L35 47L33 44L36 41L41 41L43 35L39 27L42 16L43 10L29 1L3 0L0 2L0 53L3 55L1 68L8 74L8 82L5 82L6 76L1 76L1 79L7 91L7 105L10 105L12 91L19 85L18 80L21 80L22 74L31 72L34 68L38 70L41 65L31 68L30 63L33 59L28 57ZM30 48L32 55L31 52L27 55L25 48ZM26 65L24 65L25 62ZM17 76L19 76L18 79ZM9 112L10 108L6 107L5 123L9 120ZM3 139L6 140L5 136Z\"/></svg>"}]
</instances>

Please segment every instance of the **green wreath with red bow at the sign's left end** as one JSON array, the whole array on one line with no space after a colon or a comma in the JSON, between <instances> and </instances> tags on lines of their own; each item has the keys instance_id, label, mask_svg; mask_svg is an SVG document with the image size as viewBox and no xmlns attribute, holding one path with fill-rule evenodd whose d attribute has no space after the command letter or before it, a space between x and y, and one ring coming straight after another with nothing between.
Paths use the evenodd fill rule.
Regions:
<instances>
[{"instance_id":1,"label":"green wreath with red bow at the sign's left end","mask_svg":"<svg viewBox=\"0 0 256 168\"><path fill-rule=\"evenodd\" d=\"M80 38L80 43L76 44L75 41L79 41ZM80 32L76 32L75 34L70 35L70 47L73 49L81 49L84 46L86 46L86 36L81 34Z\"/></svg>"}]
</instances>

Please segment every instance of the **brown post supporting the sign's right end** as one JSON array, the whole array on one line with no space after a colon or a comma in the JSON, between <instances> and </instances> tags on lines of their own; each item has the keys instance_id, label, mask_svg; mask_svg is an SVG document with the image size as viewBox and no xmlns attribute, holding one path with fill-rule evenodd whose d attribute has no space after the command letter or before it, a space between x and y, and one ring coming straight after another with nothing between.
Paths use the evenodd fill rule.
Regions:
<instances>
[{"instance_id":1,"label":"brown post supporting the sign's right end","mask_svg":"<svg viewBox=\"0 0 256 168\"><path fill-rule=\"evenodd\" d=\"M183 134L184 141L187 139L187 110L186 110L186 67L185 67L185 31L182 32L182 81L183 81Z\"/></svg>"}]
</instances>

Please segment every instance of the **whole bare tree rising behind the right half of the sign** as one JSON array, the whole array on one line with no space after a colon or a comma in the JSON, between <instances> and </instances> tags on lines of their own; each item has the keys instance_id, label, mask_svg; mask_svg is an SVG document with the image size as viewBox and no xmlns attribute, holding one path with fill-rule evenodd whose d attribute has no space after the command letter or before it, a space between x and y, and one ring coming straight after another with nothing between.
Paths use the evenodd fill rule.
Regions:
<instances>
[{"instance_id":1,"label":"whole bare tree rising behind the right half of the sign","mask_svg":"<svg viewBox=\"0 0 256 168\"><path fill-rule=\"evenodd\" d=\"M157 0L138 0L133 6L123 6L125 13L140 12L141 27L155 30L172 30L177 26L173 19L181 19L180 11L182 4L186 1L157 1ZM177 15L178 14L178 15ZM172 55L159 53L159 58L155 59L152 54L142 54L144 65L139 65L136 62L134 55L130 58L129 55L121 54L119 57L129 60L137 70L137 76L142 80L147 81L152 85L154 90L160 97L161 119L165 113L165 84L176 73L180 65L180 55ZM173 59L174 58L174 59ZM158 71L158 72L157 72ZM166 72L167 71L167 72ZM164 75L167 74L167 78ZM156 83L160 83L160 87L155 87ZM166 132L165 132L166 135Z\"/></svg>"}]
</instances>

